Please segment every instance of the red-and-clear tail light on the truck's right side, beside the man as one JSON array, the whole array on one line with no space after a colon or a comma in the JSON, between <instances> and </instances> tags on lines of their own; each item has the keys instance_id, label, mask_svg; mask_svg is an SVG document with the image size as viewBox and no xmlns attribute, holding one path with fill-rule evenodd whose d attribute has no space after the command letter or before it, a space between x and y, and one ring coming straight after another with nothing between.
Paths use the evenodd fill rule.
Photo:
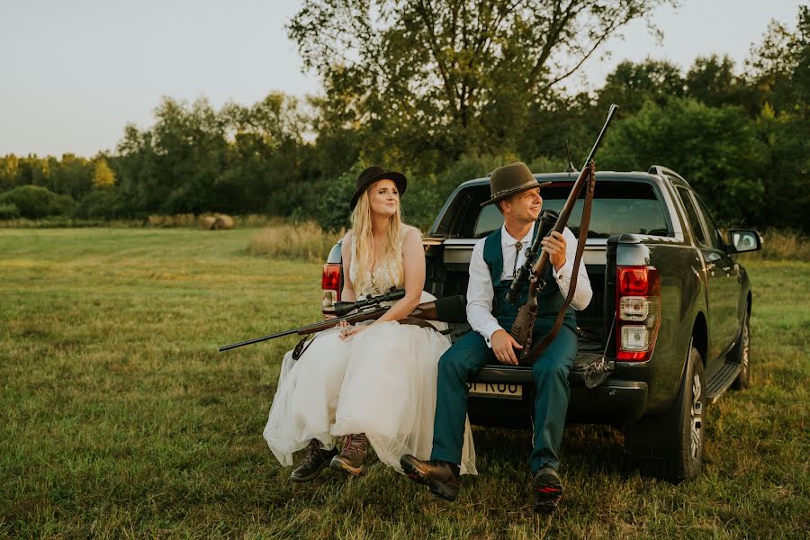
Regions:
<instances>
[{"instance_id":1,"label":"red-and-clear tail light on the truck's right side, beside the man","mask_svg":"<svg viewBox=\"0 0 810 540\"><path fill-rule=\"evenodd\" d=\"M617 266L616 359L646 362L661 326L661 278L654 266Z\"/></svg>"}]
</instances>

